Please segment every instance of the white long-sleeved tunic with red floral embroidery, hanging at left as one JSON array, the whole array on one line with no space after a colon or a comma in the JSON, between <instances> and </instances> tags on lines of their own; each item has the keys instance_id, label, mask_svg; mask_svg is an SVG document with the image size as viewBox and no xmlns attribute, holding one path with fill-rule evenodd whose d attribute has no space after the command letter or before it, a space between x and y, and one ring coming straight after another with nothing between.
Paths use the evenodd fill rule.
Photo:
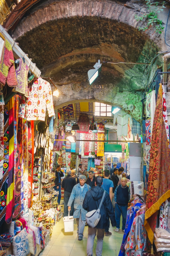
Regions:
<instances>
[{"instance_id":1,"label":"white long-sleeved tunic with red floral embroidery, hanging at left","mask_svg":"<svg viewBox=\"0 0 170 256\"><path fill-rule=\"evenodd\" d=\"M48 116L53 116L54 106L50 83L39 77L32 84L28 100L26 101L27 121L45 121L46 107L48 111Z\"/></svg>"}]
</instances>

